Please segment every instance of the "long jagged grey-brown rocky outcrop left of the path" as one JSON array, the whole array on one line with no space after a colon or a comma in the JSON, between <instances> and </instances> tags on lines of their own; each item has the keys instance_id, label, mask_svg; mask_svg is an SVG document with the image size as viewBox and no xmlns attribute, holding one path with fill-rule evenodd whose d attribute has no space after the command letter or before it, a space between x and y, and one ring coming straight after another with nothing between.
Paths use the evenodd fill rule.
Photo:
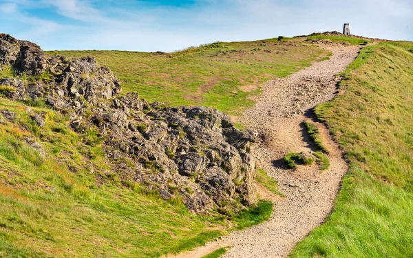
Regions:
<instances>
[{"instance_id":1,"label":"long jagged grey-brown rocky outcrop left of the path","mask_svg":"<svg viewBox=\"0 0 413 258\"><path fill-rule=\"evenodd\" d=\"M9 89L4 94L21 101L45 99L70 115L78 134L98 130L108 162L125 185L140 183L163 199L182 198L198 213L255 203L255 136L234 128L222 112L168 108L136 93L120 95L118 79L94 58L47 56L34 43L0 34L0 68L6 66L17 77L0 79ZM23 80L27 75L30 79ZM42 117L32 119L44 126Z\"/></svg>"}]
</instances>

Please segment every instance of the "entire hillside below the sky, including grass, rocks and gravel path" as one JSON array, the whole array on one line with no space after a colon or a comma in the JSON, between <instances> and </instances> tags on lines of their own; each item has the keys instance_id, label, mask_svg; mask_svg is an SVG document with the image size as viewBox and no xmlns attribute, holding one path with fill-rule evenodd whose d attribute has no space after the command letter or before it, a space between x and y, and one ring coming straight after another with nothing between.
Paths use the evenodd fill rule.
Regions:
<instances>
[{"instance_id":1,"label":"entire hillside below the sky, including grass, rocks and gravel path","mask_svg":"<svg viewBox=\"0 0 413 258\"><path fill-rule=\"evenodd\" d=\"M326 217L293 257L413 256L413 43L367 43L45 53L0 34L0 257L161 257L231 232L211 257L277 255Z\"/></svg>"}]
</instances>

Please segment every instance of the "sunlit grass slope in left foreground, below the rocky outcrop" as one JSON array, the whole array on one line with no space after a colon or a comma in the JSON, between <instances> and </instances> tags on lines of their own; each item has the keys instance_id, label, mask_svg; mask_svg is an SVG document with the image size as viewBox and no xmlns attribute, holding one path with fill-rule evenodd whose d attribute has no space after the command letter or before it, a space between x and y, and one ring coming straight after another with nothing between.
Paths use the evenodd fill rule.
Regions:
<instances>
[{"instance_id":1,"label":"sunlit grass slope in left foreground, below the rocky outcrop","mask_svg":"<svg viewBox=\"0 0 413 258\"><path fill-rule=\"evenodd\" d=\"M214 210L193 215L179 199L163 201L112 172L96 128L78 135L69 117L42 103L30 107L45 114L39 128L22 103L0 98L0 110L16 113L14 122L0 123L1 257L160 257L271 215L265 201L230 217ZM47 155L25 137L41 143Z\"/></svg>"}]
</instances>

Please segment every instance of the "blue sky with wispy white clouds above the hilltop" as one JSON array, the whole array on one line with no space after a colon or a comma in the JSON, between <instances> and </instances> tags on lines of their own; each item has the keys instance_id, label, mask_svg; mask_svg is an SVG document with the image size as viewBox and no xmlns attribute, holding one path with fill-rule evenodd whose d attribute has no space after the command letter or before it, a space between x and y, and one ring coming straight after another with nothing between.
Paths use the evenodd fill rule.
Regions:
<instances>
[{"instance_id":1,"label":"blue sky with wispy white clouds above the hilltop","mask_svg":"<svg viewBox=\"0 0 413 258\"><path fill-rule=\"evenodd\" d=\"M342 31L413 41L413 0L0 0L0 33L43 50L181 50Z\"/></svg>"}]
</instances>

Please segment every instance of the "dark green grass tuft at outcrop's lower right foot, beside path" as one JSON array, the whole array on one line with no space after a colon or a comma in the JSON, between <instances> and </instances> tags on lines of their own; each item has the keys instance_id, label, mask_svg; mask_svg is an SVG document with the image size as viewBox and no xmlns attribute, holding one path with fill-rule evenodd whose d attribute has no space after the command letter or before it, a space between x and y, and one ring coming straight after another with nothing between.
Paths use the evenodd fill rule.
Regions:
<instances>
[{"instance_id":1,"label":"dark green grass tuft at outcrop's lower right foot, beside path","mask_svg":"<svg viewBox=\"0 0 413 258\"><path fill-rule=\"evenodd\" d=\"M270 219L273 213L273 203L271 201L258 201L256 206L251 206L235 215L234 221L237 223L236 229L243 230L255 226Z\"/></svg>"}]
</instances>

